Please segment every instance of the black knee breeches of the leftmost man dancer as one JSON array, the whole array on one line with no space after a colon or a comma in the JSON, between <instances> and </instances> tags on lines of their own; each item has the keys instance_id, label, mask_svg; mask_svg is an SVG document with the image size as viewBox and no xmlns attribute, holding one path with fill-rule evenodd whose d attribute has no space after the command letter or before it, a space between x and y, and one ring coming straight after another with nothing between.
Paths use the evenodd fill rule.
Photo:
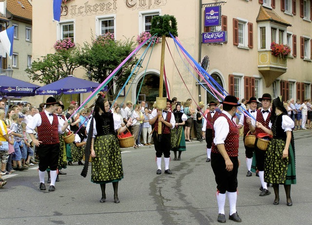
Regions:
<instances>
[{"instance_id":1,"label":"black knee breeches of the leftmost man dancer","mask_svg":"<svg viewBox=\"0 0 312 225\"><path fill-rule=\"evenodd\" d=\"M45 171L48 167L57 170L59 162L59 143L52 145L40 144L37 150L39 155L39 170Z\"/></svg>"}]
</instances>

